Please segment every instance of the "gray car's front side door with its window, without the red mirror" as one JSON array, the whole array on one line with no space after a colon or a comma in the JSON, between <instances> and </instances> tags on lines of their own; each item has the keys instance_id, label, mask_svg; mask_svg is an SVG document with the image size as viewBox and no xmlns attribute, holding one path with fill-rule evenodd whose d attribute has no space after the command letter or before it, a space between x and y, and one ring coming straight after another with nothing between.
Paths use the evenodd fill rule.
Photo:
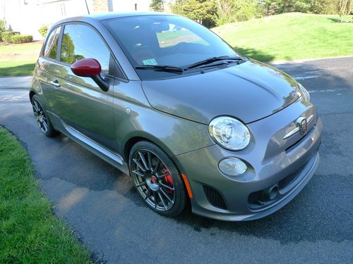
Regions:
<instances>
[{"instance_id":1,"label":"gray car's front side door with its window, without the red mirror","mask_svg":"<svg viewBox=\"0 0 353 264\"><path fill-rule=\"evenodd\" d=\"M81 58L99 61L102 77L111 84L107 92L103 92L90 77L72 73L71 64ZM58 84L53 96L55 113L66 127L116 151L112 114L113 77L109 75L109 65L114 65L112 54L94 28L84 23L64 25L59 62L54 64L57 79L53 82Z\"/></svg>"}]
</instances>

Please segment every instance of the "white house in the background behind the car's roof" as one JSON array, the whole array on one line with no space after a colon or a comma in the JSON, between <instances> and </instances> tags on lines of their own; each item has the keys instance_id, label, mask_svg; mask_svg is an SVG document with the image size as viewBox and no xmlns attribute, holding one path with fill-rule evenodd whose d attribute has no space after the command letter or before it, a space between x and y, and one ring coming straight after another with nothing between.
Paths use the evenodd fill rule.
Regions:
<instances>
[{"instance_id":1,"label":"white house in the background behind the car's roof","mask_svg":"<svg viewBox=\"0 0 353 264\"><path fill-rule=\"evenodd\" d=\"M38 29L88 13L150 11L152 0L0 0L0 19L13 31L42 39Z\"/></svg>"}]
</instances>

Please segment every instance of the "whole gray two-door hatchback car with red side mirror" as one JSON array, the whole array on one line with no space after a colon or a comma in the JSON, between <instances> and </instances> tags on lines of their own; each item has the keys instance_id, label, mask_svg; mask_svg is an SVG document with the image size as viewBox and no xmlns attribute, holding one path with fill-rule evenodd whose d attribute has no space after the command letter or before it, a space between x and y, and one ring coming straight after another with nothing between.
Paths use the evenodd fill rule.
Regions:
<instances>
[{"instance_id":1,"label":"whole gray two-door hatchback car with red side mirror","mask_svg":"<svg viewBox=\"0 0 353 264\"><path fill-rule=\"evenodd\" d=\"M253 220L318 167L323 125L289 75L192 20L107 13L54 24L30 88L35 119L131 175L157 213Z\"/></svg>"}]
</instances>

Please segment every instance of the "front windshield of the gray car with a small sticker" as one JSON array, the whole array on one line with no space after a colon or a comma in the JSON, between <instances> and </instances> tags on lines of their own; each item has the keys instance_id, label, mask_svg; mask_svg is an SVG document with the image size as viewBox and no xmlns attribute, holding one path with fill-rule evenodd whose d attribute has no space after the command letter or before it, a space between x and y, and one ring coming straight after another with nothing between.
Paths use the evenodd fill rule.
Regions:
<instances>
[{"instance_id":1,"label":"front windshield of the gray car with a small sticker","mask_svg":"<svg viewBox=\"0 0 353 264\"><path fill-rule=\"evenodd\" d=\"M187 68L208 58L237 56L216 34L193 20L177 15L131 16L103 23L134 67L168 65ZM173 72L137 71L142 79L176 75Z\"/></svg>"}]
</instances>

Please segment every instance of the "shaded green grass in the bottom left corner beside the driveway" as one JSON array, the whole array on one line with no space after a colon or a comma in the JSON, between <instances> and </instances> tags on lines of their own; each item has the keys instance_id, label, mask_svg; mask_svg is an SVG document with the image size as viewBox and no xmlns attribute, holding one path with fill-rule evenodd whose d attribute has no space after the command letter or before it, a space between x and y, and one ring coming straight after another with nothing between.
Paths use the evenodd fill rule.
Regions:
<instances>
[{"instance_id":1,"label":"shaded green grass in the bottom left corner beside the driveway","mask_svg":"<svg viewBox=\"0 0 353 264\"><path fill-rule=\"evenodd\" d=\"M0 127L0 263L89 263L33 173L27 151Z\"/></svg>"}]
</instances>

